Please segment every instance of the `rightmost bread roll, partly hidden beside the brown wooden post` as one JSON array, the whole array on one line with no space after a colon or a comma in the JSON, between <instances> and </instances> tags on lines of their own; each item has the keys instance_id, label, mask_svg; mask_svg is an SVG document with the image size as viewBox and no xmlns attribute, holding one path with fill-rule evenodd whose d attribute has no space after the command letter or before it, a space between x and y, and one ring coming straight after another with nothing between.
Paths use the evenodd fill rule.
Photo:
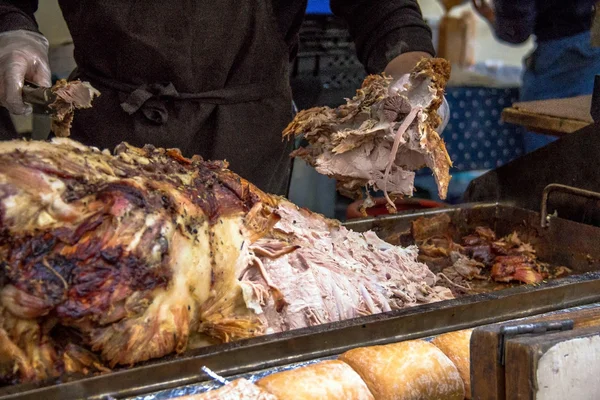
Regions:
<instances>
[{"instance_id":1,"label":"rightmost bread roll, partly hidden beside the brown wooden post","mask_svg":"<svg viewBox=\"0 0 600 400\"><path fill-rule=\"evenodd\" d=\"M471 334L473 329L449 332L433 339L440 349L458 368L465 384L465 398L471 398Z\"/></svg>"}]
</instances>

